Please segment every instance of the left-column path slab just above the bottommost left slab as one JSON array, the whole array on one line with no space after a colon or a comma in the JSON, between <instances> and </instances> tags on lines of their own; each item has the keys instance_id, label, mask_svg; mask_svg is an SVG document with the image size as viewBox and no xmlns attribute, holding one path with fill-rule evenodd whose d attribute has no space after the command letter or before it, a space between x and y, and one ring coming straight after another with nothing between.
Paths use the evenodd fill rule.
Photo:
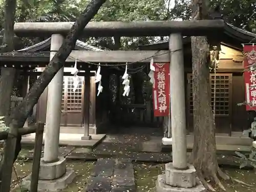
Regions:
<instances>
[{"instance_id":1,"label":"left-column path slab just above the bottommost left slab","mask_svg":"<svg viewBox=\"0 0 256 192\"><path fill-rule=\"evenodd\" d=\"M113 175L115 160L114 159L98 159L94 167L92 176L111 177Z\"/></svg>"}]
</instances>

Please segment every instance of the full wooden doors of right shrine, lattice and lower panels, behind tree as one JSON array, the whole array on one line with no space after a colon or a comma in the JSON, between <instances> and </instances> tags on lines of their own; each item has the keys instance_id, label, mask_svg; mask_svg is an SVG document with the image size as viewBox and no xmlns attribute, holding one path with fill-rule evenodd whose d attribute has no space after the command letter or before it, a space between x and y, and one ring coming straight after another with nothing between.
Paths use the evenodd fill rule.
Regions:
<instances>
[{"instance_id":1,"label":"full wooden doors of right shrine, lattice and lower panels, behind tree","mask_svg":"<svg viewBox=\"0 0 256 192\"><path fill-rule=\"evenodd\" d=\"M193 76L187 75L187 126L193 131ZM215 123L216 133L231 134L232 117L232 74L217 73L216 88L214 86L215 74L210 74L211 106L214 110L215 97ZM214 90L216 93L214 94Z\"/></svg>"}]
</instances>

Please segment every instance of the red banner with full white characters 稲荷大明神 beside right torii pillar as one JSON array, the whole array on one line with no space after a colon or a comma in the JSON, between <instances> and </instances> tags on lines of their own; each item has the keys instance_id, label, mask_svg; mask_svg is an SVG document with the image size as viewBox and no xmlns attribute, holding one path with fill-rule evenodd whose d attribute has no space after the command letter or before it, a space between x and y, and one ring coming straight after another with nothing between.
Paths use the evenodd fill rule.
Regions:
<instances>
[{"instance_id":1,"label":"red banner with full white characters \u7a32\u8377\u5927\u660e\u795e beside right torii pillar","mask_svg":"<svg viewBox=\"0 0 256 192\"><path fill-rule=\"evenodd\" d=\"M154 116L168 116L170 106L169 63L153 63L154 72L153 104Z\"/></svg>"}]
</instances>

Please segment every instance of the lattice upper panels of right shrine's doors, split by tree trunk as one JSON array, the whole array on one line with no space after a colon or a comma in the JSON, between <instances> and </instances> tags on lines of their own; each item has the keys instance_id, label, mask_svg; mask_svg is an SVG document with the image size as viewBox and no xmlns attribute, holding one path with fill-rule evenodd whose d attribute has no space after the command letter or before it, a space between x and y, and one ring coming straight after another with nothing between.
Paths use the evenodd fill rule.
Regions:
<instances>
[{"instance_id":1,"label":"lattice upper panels of right shrine's doors, split by tree trunk","mask_svg":"<svg viewBox=\"0 0 256 192\"><path fill-rule=\"evenodd\" d=\"M231 74L216 74L216 95L215 95L215 115L216 116L229 116L230 112L230 91L231 91ZM211 87L211 106L214 110L214 81L215 75L210 74L210 87ZM188 75L188 110L189 114L193 114L193 78Z\"/></svg>"}]
</instances>

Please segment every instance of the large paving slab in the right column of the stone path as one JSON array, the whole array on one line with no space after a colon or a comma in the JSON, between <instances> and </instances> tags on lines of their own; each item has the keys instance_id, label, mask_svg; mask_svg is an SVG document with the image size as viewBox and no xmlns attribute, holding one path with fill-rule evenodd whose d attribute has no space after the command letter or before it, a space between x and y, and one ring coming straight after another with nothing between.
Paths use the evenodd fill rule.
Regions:
<instances>
[{"instance_id":1,"label":"large paving slab in the right column of the stone path","mask_svg":"<svg viewBox=\"0 0 256 192\"><path fill-rule=\"evenodd\" d=\"M132 163L116 163L112 180L113 188L120 186L135 186Z\"/></svg>"}]
</instances>

